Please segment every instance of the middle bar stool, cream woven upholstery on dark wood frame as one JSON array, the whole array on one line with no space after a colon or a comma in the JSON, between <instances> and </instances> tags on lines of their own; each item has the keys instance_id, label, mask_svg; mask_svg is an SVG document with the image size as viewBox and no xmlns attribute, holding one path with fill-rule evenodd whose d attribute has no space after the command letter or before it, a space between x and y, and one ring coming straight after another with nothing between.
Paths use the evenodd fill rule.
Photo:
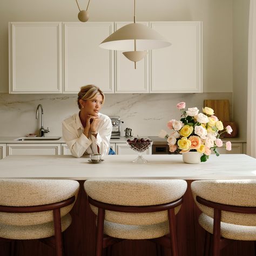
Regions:
<instances>
[{"instance_id":1,"label":"middle bar stool, cream woven upholstery on dark wood frame","mask_svg":"<svg viewBox=\"0 0 256 256\"><path fill-rule=\"evenodd\" d=\"M87 180L84 189L97 215L96 256L124 239L153 239L178 255L176 217L185 180Z\"/></svg>"}]
</instances>

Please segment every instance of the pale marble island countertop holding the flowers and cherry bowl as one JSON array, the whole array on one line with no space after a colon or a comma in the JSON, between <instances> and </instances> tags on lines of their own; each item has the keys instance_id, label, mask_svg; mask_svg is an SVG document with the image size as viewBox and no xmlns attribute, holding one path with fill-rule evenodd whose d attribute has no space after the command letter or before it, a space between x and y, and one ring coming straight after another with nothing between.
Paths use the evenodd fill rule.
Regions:
<instances>
[{"instance_id":1,"label":"pale marble island countertop holding the flowers and cherry bowl","mask_svg":"<svg viewBox=\"0 0 256 256\"><path fill-rule=\"evenodd\" d=\"M0 178L256 179L256 159L245 154L212 155L200 164L184 164L181 155L143 157L149 162L133 164L134 155L104 156L100 164L87 157L8 156L0 161Z\"/></svg>"}]
</instances>

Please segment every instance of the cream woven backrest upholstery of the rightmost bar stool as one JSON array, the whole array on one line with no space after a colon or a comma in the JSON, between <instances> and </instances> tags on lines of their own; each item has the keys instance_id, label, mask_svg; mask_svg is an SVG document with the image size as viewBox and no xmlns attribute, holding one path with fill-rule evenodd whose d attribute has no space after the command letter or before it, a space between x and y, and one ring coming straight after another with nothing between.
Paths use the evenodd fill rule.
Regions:
<instances>
[{"instance_id":1,"label":"cream woven backrest upholstery of the rightmost bar stool","mask_svg":"<svg viewBox=\"0 0 256 256\"><path fill-rule=\"evenodd\" d=\"M215 203L256 206L256 180L198 180L191 183L194 201L199 209L213 218L213 209L199 204L196 196ZM235 225L254 226L256 214L221 211L221 221Z\"/></svg>"}]
</instances>

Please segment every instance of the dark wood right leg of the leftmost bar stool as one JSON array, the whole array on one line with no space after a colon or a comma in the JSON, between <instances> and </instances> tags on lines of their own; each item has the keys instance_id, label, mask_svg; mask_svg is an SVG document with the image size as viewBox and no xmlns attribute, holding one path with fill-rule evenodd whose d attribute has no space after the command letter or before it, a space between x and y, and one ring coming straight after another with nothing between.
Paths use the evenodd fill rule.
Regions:
<instances>
[{"instance_id":1,"label":"dark wood right leg of the leftmost bar stool","mask_svg":"<svg viewBox=\"0 0 256 256\"><path fill-rule=\"evenodd\" d=\"M54 232L55 232L55 251L56 256L62 256L62 223L60 210L53 210Z\"/></svg>"}]
</instances>

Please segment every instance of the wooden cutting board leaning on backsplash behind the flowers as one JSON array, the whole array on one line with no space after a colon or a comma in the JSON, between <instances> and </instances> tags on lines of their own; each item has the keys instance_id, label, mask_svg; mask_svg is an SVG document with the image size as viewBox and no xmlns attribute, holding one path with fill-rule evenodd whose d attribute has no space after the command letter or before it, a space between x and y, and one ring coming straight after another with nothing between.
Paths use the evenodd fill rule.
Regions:
<instances>
[{"instance_id":1,"label":"wooden cutting board leaning on backsplash behind the flowers","mask_svg":"<svg viewBox=\"0 0 256 256\"><path fill-rule=\"evenodd\" d=\"M228 99L205 99L205 106L211 107L214 110L214 116L217 116L222 122L230 122L230 102Z\"/></svg>"}]
</instances>

